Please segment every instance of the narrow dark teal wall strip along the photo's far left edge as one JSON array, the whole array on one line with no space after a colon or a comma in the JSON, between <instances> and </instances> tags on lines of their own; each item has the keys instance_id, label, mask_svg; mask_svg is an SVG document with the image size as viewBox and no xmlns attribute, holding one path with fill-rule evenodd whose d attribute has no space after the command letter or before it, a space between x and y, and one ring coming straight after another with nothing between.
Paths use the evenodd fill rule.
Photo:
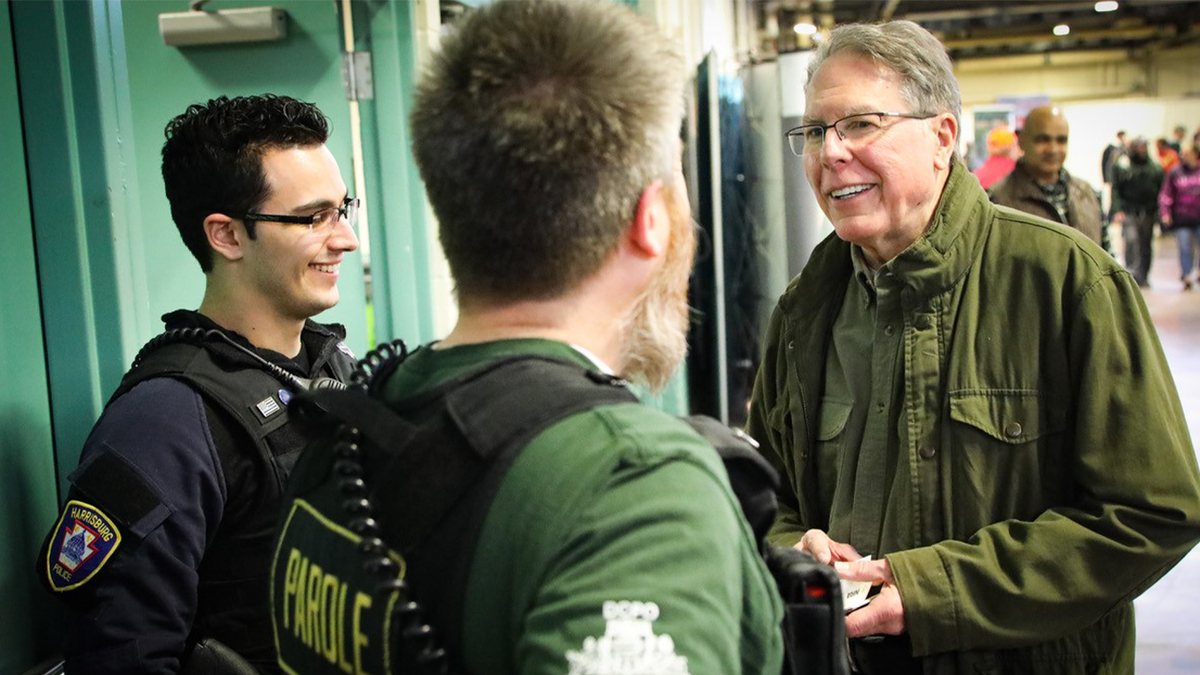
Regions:
<instances>
[{"instance_id":1,"label":"narrow dark teal wall strip along the photo's far left edge","mask_svg":"<svg viewBox=\"0 0 1200 675\"><path fill-rule=\"evenodd\" d=\"M46 658L56 638L56 608L34 583L32 563L58 506L42 310L34 259L25 145L8 0L0 0L0 673L23 673Z\"/></svg>"}]
</instances>

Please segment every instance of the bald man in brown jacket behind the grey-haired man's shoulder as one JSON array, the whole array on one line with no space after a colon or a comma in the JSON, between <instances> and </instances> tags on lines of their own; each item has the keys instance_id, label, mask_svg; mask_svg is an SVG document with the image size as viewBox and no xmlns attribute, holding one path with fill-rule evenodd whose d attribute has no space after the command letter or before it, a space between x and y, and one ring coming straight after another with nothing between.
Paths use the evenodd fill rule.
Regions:
<instances>
[{"instance_id":1,"label":"bald man in brown jacket behind the grey-haired man's shoulder","mask_svg":"<svg viewBox=\"0 0 1200 675\"><path fill-rule=\"evenodd\" d=\"M1016 137L1022 157L988 195L1003 207L1061 222L1108 250L1100 198L1087 181L1063 168L1070 127L1062 110L1042 106L1030 110Z\"/></svg>"}]
</instances>

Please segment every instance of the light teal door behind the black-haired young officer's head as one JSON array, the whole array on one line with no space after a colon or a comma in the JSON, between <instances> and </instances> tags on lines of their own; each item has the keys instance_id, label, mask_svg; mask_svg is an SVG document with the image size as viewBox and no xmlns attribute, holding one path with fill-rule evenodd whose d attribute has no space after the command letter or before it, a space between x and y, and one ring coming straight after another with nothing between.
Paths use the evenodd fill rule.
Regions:
<instances>
[{"instance_id":1,"label":"light teal door behind the black-haired young officer's head","mask_svg":"<svg viewBox=\"0 0 1200 675\"><path fill-rule=\"evenodd\" d=\"M260 1L221 0L212 8L262 6ZM142 247L146 294L155 331L158 317L178 307L199 306L204 275L184 246L170 219L162 186L163 129L191 103L216 96L284 94L316 103L330 119L329 149L353 191L349 106L342 88L342 32L331 0L284 0L270 5L288 12L288 37L278 42L168 47L158 36L158 14L185 11L181 0L121 4L133 147L140 187ZM367 346L366 292L359 253L347 257L341 301L318 319L346 325L347 344L361 354ZM150 338L152 333L145 335Z\"/></svg>"}]
</instances>

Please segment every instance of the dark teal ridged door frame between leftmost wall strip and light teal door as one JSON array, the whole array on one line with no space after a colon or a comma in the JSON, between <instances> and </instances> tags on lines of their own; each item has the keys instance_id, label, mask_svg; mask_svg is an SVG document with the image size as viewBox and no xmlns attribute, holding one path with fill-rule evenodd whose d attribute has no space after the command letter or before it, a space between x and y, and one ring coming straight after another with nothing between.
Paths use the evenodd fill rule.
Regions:
<instances>
[{"instance_id":1,"label":"dark teal ridged door frame between leftmost wall strip and light teal door","mask_svg":"<svg viewBox=\"0 0 1200 675\"><path fill-rule=\"evenodd\" d=\"M61 489L134 340L115 257L124 195L112 189L127 167L109 159L122 136L100 104L110 55L107 40L97 52L92 18L106 7L11 7Z\"/></svg>"}]
</instances>

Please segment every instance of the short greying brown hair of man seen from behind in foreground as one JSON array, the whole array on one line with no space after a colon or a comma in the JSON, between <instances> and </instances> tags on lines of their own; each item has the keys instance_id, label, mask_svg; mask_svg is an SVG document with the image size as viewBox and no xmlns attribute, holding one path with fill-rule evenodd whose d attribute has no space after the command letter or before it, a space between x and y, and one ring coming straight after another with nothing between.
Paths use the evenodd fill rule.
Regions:
<instances>
[{"instance_id":1,"label":"short greying brown hair of man seen from behind in foreground","mask_svg":"<svg viewBox=\"0 0 1200 675\"><path fill-rule=\"evenodd\" d=\"M461 304L546 299L599 269L668 175L683 59L605 1L502 0L452 28L413 150Z\"/></svg>"}]
</instances>

